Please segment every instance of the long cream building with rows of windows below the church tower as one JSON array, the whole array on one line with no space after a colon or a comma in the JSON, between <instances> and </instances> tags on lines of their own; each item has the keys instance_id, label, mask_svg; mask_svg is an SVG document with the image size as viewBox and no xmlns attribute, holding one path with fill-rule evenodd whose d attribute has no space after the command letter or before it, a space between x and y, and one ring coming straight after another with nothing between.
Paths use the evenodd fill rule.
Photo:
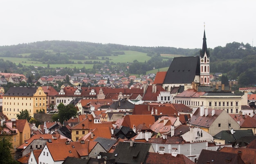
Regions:
<instances>
[{"instance_id":1,"label":"long cream building with rows of windows below the church tower","mask_svg":"<svg viewBox=\"0 0 256 164\"><path fill-rule=\"evenodd\" d=\"M173 103L181 103L192 109L197 109L204 105L206 108L225 109L227 113L238 113L243 104L243 97L227 91L227 87L222 84L221 89L218 85L195 86L192 84L191 89L176 95Z\"/></svg>"}]
</instances>

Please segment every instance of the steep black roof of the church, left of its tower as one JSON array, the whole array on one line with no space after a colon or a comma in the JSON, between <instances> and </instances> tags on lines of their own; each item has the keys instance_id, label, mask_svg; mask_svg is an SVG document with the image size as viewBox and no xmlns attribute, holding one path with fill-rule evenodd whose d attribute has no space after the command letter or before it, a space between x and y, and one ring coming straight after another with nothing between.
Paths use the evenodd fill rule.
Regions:
<instances>
[{"instance_id":1,"label":"steep black roof of the church, left of its tower","mask_svg":"<svg viewBox=\"0 0 256 164\"><path fill-rule=\"evenodd\" d=\"M164 84L191 84L195 75L200 75L199 56L173 58Z\"/></svg>"}]
</instances>

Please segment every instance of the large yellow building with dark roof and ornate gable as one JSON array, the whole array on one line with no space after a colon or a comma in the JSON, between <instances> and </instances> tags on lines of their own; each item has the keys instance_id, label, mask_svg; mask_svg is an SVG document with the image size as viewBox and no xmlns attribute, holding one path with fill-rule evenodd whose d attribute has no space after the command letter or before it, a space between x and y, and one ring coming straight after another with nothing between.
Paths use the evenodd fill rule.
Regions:
<instances>
[{"instance_id":1,"label":"large yellow building with dark roof and ornate gable","mask_svg":"<svg viewBox=\"0 0 256 164\"><path fill-rule=\"evenodd\" d=\"M34 117L38 111L47 112L46 94L42 87L11 87L3 95L2 111L9 119L17 118L20 111L27 109L29 116Z\"/></svg>"}]
</instances>

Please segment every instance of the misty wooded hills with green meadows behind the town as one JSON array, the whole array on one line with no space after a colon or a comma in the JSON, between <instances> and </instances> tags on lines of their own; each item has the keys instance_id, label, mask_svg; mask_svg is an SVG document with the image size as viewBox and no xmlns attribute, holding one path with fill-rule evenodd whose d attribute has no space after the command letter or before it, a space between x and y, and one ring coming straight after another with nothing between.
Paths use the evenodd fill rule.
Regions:
<instances>
[{"instance_id":1,"label":"misty wooded hills with green meadows behind the town","mask_svg":"<svg viewBox=\"0 0 256 164\"><path fill-rule=\"evenodd\" d=\"M244 49L240 49L240 46L243 46ZM161 54L193 56L198 55L200 51L200 49L182 49L175 47L137 47L121 44L53 40L1 46L0 57L28 58L29 60L45 64L67 64L72 63L72 59L84 60L85 64L94 64L94 69L85 70L87 72L92 71L93 73L96 68L99 69L99 67L104 64L111 67L114 63L110 62L108 57L124 55L123 51L127 50L143 52L150 57L150 59L145 60L145 62L138 62L134 59L132 63L129 63L128 66L130 69L128 73L133 74L145 74L146 71L153 69L153 67L155 69L168 67L171 64L172 58L163 57ZM240 86L252 86L256 83L255 47L252 47L248 43L232 42L227 43L225 47L218 46L214 49L209 49L209 51L210 73L221 72L230 80L238 79ZM100 61L101 59L103 59L102 62ZM124 64L119 63L119 65ZM4 60L0 60L0 67L0 69L10 67L14 70L17 69L15 63ZM28 69L24 68L22 64L19 64L18 67L23 69L21 71ZM48 70L48 72L54 73L54 71L50 70Z\"/></svg>"}]
</instances>

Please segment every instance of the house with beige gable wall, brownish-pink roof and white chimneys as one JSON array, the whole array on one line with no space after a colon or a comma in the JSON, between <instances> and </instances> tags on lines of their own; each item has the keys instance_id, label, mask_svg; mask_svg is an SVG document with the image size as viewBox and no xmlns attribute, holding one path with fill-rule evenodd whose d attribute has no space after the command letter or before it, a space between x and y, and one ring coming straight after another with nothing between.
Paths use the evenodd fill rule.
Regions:
<instances>
[{"instance_id":1,"label":"house with beige gable wall, brownish-pink roof and white chimneys","mask_svg":"<svg viewBox=\"0 0 256 164\"><path fill-rule=\"evenodd\" d=\"M225 110L204 109L204 106L195 111L188 124L198 126L212 136L223 130L240 129L239 124Z\"/></svg>"}]
</instances>

